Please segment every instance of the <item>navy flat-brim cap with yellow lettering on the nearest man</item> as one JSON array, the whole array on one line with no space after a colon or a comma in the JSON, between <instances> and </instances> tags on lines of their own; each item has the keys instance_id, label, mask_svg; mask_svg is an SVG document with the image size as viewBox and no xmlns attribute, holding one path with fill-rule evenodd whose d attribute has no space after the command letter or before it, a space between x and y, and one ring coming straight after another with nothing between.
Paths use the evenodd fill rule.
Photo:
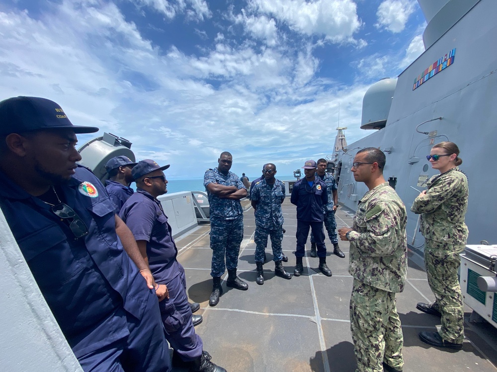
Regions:
<instances>
[{"instance_id":1,"label":"navy flat-brim cap with yellow lettering on the nearest man","mask_svg":"<svg viewBox=\"0 0 497 372\"><path fill-rule=\"evenodd\" d=\"M0 102L0 134L39 129L71 129L75 133L98 131L96 126L73 125L64 110L46 98L19 96Z\"/></svg>"}]
</instances>

